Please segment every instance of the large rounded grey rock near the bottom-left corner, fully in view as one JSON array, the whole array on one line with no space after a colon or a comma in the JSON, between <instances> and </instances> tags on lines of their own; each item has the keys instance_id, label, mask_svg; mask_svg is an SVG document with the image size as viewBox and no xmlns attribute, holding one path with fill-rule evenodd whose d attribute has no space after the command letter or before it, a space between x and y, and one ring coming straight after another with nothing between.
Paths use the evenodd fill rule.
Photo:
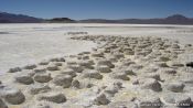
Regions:
<instances>
[{"instance_id":1,"label":"large rounded grey rock near the bottom-left corner, fully in view","mask_svg":"<svg viewBox=\"0 0 193 108\"><path fill-rule=\"evenodd\" d=\"M8 89L3 97L6 101L12 105L20 105L25 100L25 96L18 89Z\"/></svg>"}]
</instances>

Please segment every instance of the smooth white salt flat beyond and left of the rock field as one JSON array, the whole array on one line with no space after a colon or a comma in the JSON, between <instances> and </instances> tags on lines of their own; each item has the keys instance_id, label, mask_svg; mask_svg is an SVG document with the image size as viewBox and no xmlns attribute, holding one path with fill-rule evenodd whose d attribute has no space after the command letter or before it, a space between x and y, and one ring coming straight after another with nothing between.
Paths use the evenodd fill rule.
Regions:
<instances>
[{"instance_id":1,"label":"smooth white salt flat beyond and left of the rock field","mask_svg":"<svg viewBox=\"0 0 193 108\"><path fill-rule=\"evenodd\" d=\"M4 34L2 32L8 32ZM0 73L53 56L89 51L96 44L68 40L67 32L162 36L193 43L193 25L151 24L0 24Z\"/></svg>"}]
</instances>

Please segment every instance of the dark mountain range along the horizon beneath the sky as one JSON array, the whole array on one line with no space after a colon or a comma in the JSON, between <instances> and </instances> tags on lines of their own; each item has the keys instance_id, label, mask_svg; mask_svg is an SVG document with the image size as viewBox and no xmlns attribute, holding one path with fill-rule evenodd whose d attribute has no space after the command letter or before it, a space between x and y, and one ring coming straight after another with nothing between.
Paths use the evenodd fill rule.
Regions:
<instances>
[{"instance_id":1,"label":"dark mountain range along the horizon beneath the sky","mask_svg":"<svg viewBox=\"0 0 193 108\"><path fill-rule=\"evenodd\" d=\"M130 24L193 24L192 18L186 18L181 14L170 15L159 19L87 19L72 20L69 18L40 19L23 14L12 14L0 12L0 23L130 23Z\"/></svg>"}]
</instances>

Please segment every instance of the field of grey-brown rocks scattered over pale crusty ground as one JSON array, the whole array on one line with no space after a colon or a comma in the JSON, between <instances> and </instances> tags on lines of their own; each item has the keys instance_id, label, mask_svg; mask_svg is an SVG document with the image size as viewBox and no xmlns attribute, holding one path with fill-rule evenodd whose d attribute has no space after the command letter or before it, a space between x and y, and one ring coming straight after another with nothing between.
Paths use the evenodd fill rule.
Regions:
<instances>
[{"instance_id":1,"label":"field of grey-brown rocks scattered over pale crusty ground","mask_svg":"<svg viewBox=\"0 0 193 108\"><path fill-rule=\"evenodd\" d=\"M141 36L72 36L92 52L10 68L0 108L192 108L191 44Z\"/></svg>"}]
</instances>

